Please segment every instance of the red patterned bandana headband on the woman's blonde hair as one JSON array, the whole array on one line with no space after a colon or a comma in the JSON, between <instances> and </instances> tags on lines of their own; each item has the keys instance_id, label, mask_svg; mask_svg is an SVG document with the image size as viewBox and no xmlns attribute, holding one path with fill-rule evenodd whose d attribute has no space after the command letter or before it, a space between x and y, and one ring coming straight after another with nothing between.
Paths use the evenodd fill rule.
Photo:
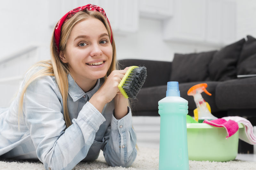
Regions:
<instances>
[{"instance_id":1,"label":"red patterned bandana headband on the woman's blonde hair","mask_svg":"<svg viewBox=\"0 0 256 170\"><path fill-rule=\"evenodd\" d=\"M60 52L60 48L59 48L59 45L60 45L60 33L61 33L61 27L62 27L63 23L66 22L69 18L71 18L76 12L79 12L79 11L82 11L82 10L98 11L108 21L108 18L107 18L107 15L106 15L105 11L102 8L100 8L99 6L96 6L96 5L87 4L85 6L80 6L80 7L77 7L75 9L69 11L62 18L60 18L60 20L57 23L57 25L55 27L55 30L54 30L55 45L57 46L58 52ZM110 31L111 31L110 43L112 44L112 30L111 30L111 26L110 26L109 21L108 21L108 25L109 25Z\"/></svg>"}]
</instances>

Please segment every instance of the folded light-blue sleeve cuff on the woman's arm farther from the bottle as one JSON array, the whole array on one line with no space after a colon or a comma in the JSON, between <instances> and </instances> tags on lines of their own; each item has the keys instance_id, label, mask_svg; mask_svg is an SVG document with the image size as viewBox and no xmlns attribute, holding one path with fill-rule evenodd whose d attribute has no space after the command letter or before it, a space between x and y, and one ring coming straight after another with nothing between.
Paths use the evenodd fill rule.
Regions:
<instances>
[{"instance_id":1,"label":"folded light-blue sleeve cuff on the woman's arm farther from the bottle","mask_svg":"<svg viewBox=\"0 0 256 170\"><path fill-rule=\"evenodd\" d=\"M106 121L105 117L90 102L86 102L78 114L87 124L89 124L96 132L100 125Z\"/></svg>"}]
</instances>

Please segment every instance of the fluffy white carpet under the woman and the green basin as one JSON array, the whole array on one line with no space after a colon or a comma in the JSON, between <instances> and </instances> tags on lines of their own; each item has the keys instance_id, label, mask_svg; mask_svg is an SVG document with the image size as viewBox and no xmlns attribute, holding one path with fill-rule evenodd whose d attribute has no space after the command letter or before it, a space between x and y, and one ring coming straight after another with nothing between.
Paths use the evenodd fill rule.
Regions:
<instances>
[{"instance_id":1,"label":"fluffy white carpet under the woman and the green basin","mask_svg":"<svg viewBox=\"0 0 256 170\"><path fill-rule=\"evenodd\" d=\"M96 161L80 162L73 170L156 170L158 169L159 151L153 148L139 148L137 158L131 167L111 167L108 166L103 153ZM1 170L44 170L44 166L39 161L14 161L0 160ZM256 162L233 160L228 162L209 162L189 160L190 170L256 170Z\"/></svg>"}]
</instances>

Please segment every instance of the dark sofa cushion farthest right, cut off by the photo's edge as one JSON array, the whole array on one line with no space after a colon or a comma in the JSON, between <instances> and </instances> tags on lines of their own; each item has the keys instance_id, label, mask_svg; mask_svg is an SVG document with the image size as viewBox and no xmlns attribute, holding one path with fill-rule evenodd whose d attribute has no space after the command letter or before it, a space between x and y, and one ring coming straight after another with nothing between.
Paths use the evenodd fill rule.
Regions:
<instances>
[{"instance_id":1,"label":"dark sofa cushion farthest right, cut off by the photo's edge","mask_svg":"<svg viewBox=\"0 0 256 170\"><path fill-rule=\"evenodd\" d=\"M256 39L250 35L237 62L237 75L243 74L256 74Z\"/></svg>"}]
</instances>

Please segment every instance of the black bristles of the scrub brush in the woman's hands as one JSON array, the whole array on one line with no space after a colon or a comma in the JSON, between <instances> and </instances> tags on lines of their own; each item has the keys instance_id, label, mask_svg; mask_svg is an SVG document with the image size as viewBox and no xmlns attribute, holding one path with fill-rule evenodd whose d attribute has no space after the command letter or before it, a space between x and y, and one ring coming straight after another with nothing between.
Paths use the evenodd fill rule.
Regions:
<instances>
[{"instance_id":1,"label":"black bristles of the scrub brush in the woman's hands","mask_svg":"<svg viewBox=\"0 0 256 170\"><path fill-rule=\"evenodd\" d=\"M133 99L138 95L147 77L146 67L134 68L122 87L128 97Z\"/></svg>"}]
</instances>

